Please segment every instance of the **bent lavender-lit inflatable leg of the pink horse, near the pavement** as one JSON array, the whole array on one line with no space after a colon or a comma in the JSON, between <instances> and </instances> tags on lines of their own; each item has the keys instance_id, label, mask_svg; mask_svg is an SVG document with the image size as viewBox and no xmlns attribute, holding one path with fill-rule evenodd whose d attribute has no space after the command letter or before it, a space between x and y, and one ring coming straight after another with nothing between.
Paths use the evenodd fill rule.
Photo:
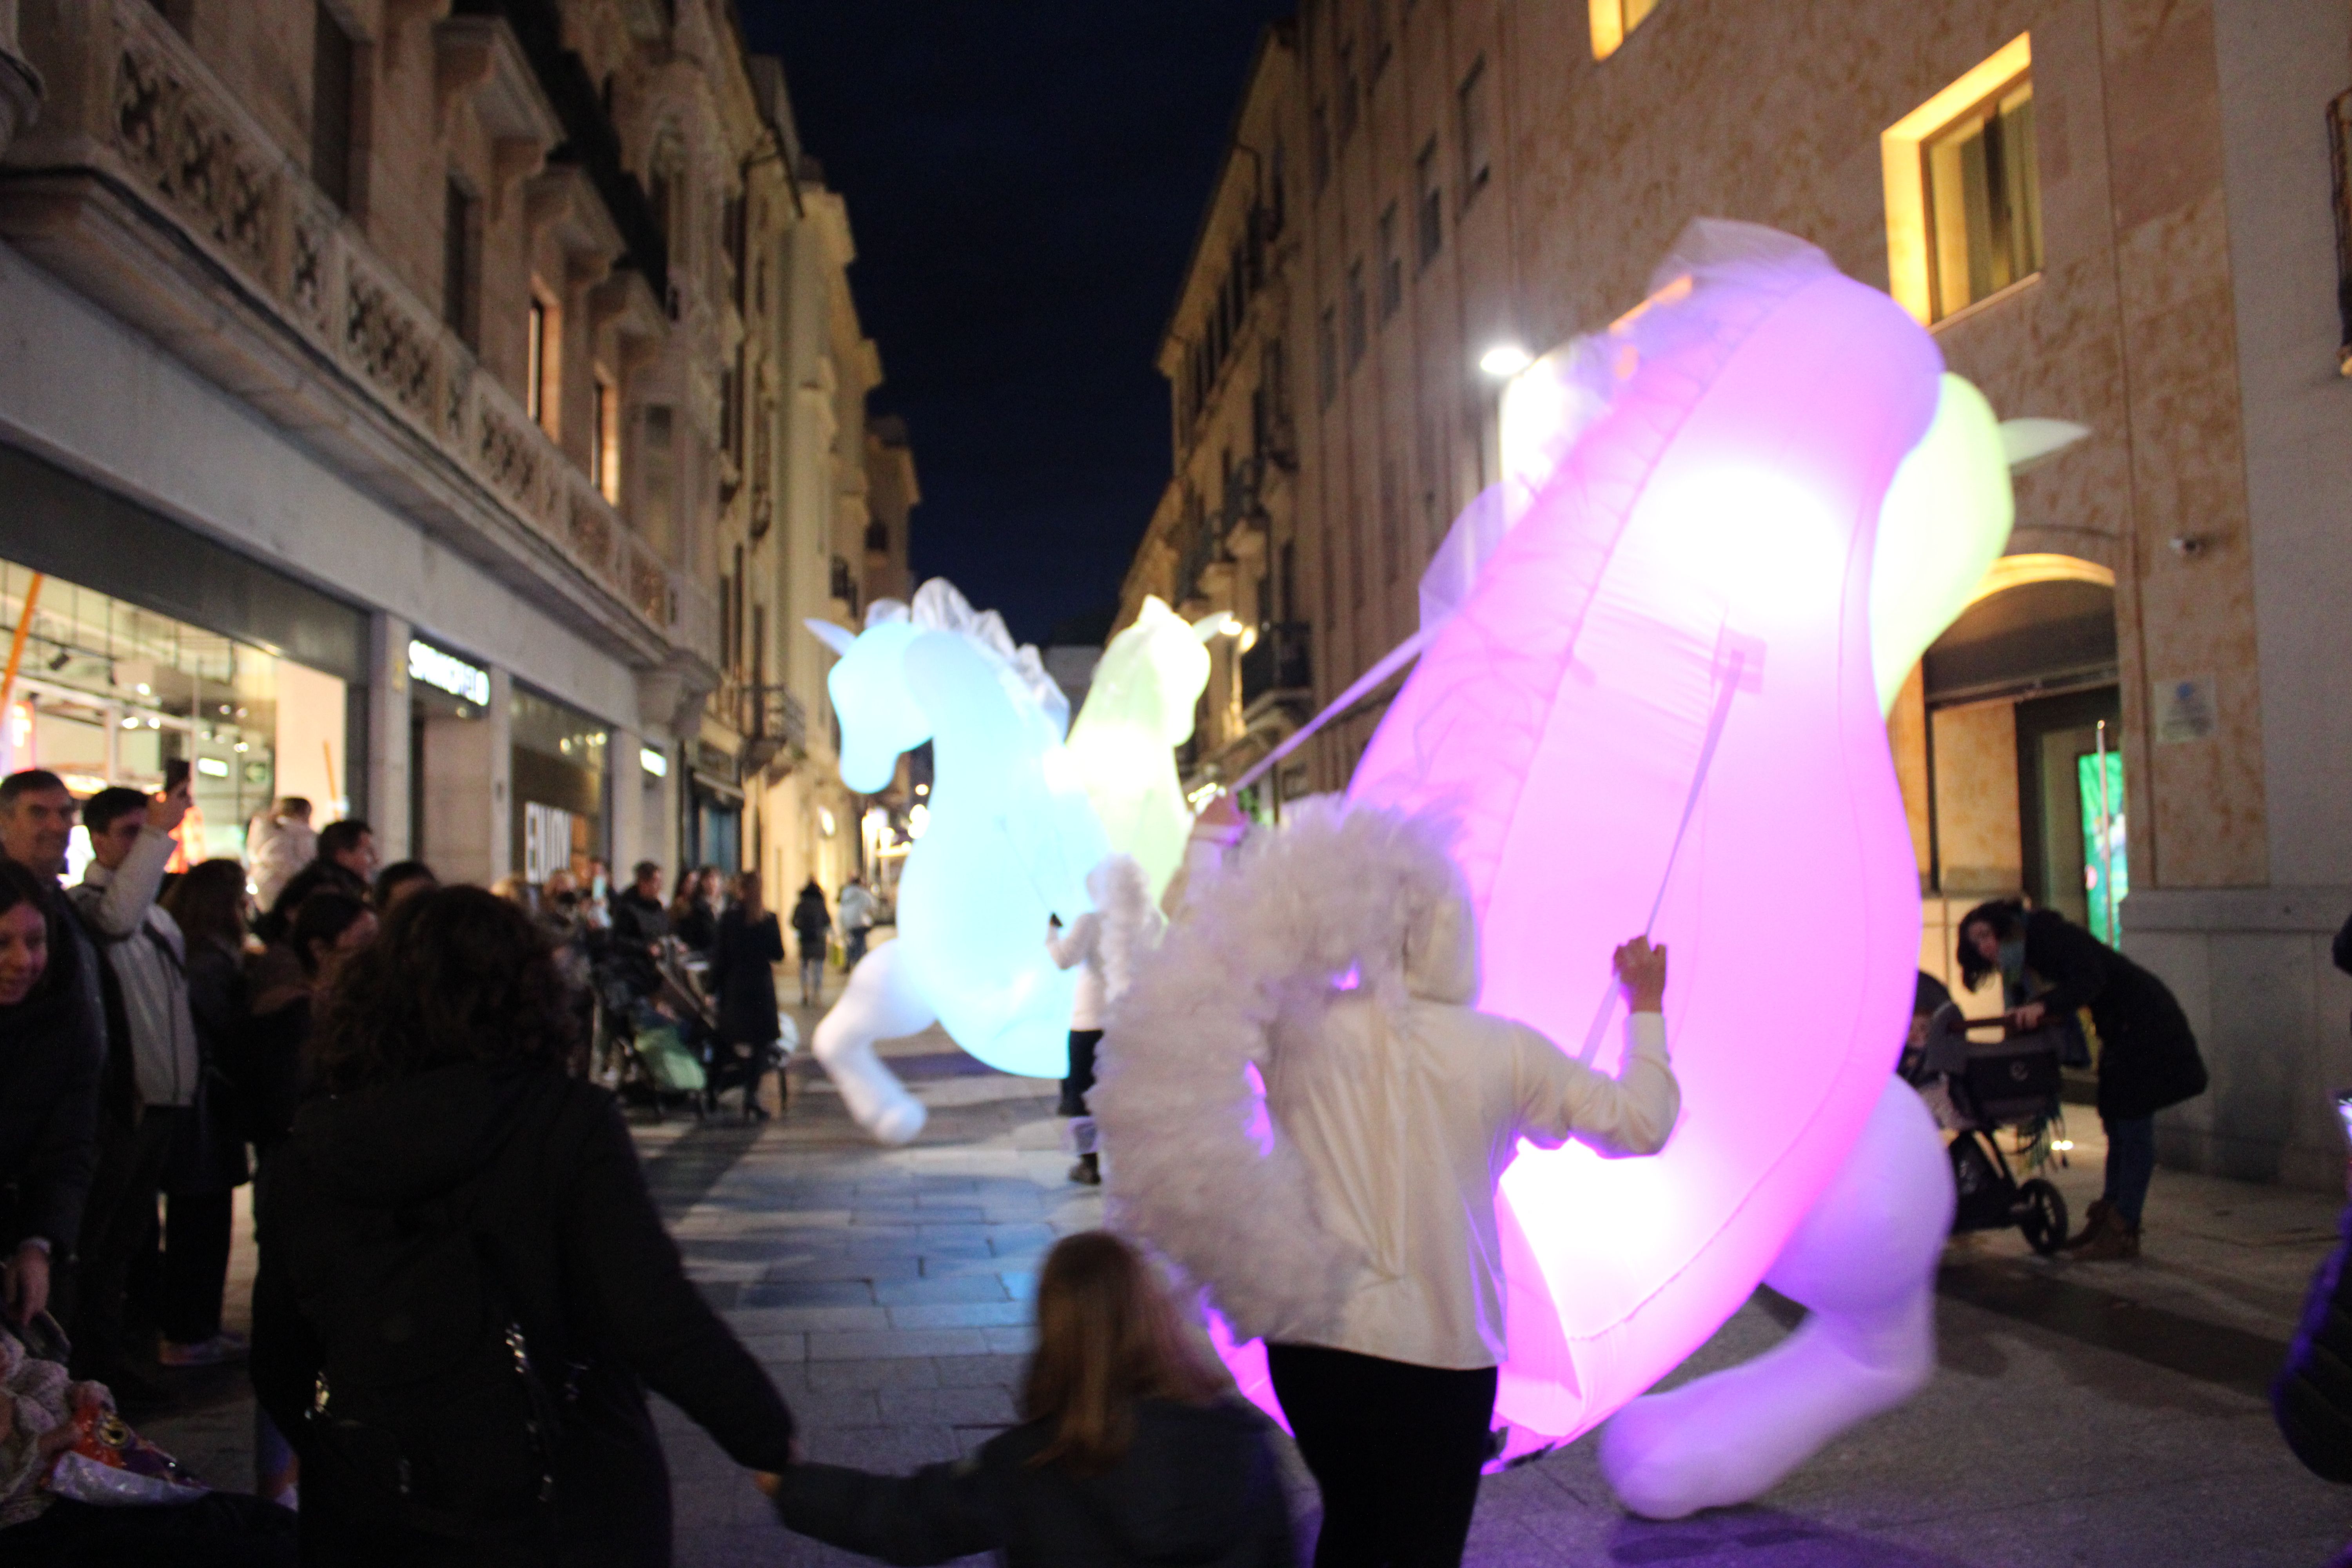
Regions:
<instances>
[{"instance_id":1,"label":"bent lavender-lit inflatable leg of the pink horse, near the pavement","mask_svg":"<svg viewBox=\"0 0 2352 1568\"><path fill-rule=\"evenodd\" d=\"M1602 1472L1649 1519L1759 1497L1846 1427L1936 1373L1936 1262L1952 1166L1919 1095L1889 1077L1846 1164L1764 1276L1809 1309L1766 1354L1625 1406Z\"/></svg>"}]
</instances>

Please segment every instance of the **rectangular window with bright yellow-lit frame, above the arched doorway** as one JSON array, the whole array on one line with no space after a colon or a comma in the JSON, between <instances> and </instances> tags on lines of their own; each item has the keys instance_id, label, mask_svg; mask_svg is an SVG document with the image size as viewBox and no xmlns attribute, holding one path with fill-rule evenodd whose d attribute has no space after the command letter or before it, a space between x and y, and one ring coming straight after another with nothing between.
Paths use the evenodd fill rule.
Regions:
<instances>
[{"instance_id":1,"label":"rectangular window with bright yellow-lit frame, above the arched doorway","mask_svg":"<svg viewBox=\"0 0 2352 1568\"><path fill-rule=\"evenodd\" d=\"M1938 322L2042 270L2032 40L2020 33L1879 136L1889 292Z\"/></svg>"}]
</instances>

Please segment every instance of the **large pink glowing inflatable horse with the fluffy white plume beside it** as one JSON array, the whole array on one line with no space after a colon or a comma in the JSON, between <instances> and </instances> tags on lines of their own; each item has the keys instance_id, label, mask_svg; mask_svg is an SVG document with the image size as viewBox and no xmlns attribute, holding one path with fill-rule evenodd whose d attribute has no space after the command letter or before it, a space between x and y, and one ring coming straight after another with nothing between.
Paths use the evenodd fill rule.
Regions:
<instances>
[{"instance_id":1,"label":"large pink glowing inflatable horse with the fluffy white plume beside it","mask_svg":"<svg viewBox=\"0 0 2352 1568\"><path fill-rule=\"evenodd\" d=\"M1696 223L1639 310L1522 376L1503 447L1348 797L1454 825L1477 1004L1604 1070L1611 950L1672 950L1668 1147L1522 1145L1503 1175L1496 1403L1512 1455L1611 1422L1618 1495L1672 1516L1755 1497L1933 1373L1952 1180L1891 1077L1919 893L1884 708L1999 555L2009 475L1917 322L1740 223ZM1287 1009L1395 969L1376 870L1334 893L1244 853L1105 1037L1115 1220L1207 1286L1277 1413L1249 1335L1315 1342L1359 1260L1254 1074ZM1644 1399L1759 1281L1809 1321Z\"/></svg>"}]
</instances>

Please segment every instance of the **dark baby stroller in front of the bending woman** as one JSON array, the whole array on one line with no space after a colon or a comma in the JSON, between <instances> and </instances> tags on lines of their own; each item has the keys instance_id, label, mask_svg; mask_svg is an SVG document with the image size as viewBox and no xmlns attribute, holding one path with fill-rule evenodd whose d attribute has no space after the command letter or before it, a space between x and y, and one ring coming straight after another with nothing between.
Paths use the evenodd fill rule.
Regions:
<instances>
[{"instance_id":1,"label":"dark baby stroller in front of the bending woman","mask_svg":"<svg viewBox=\"0 0 2352 1568\"><path fill-rule=\"evenodd\" d=\"M2065 1194L2039 1175L2018 1180L2002 1154L1997 1128L2034 1128L2058 1117L2058 1030L1969 1039L1971 1030L1999 1030L1999 1018L1964 1018L1945 1001L1929 1018L1926 1041L1912 1081L1940 1081L1952 1103L1957 1138L1950 1143L1952 1185L1959 1208L1952 1234L2009 1229L2044 1258L2065 1244Z\"/></svg>"}]
</instances>

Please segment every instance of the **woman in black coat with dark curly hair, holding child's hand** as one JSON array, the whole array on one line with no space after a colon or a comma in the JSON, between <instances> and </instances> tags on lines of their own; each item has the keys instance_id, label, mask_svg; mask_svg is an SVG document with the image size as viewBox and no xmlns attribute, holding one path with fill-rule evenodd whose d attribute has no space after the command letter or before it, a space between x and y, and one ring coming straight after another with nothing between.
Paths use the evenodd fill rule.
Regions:
<instances>
[{"instance_id":1,"label":"woman in black coat with dark curly hair, holding child's hand","mask_svg":"<svg viewBox=\"0 0 2352 1568\"><path fill-rule=\"evenodd\" d=\"M649 1387L739 1465L790 1462L614 1098L564 1072L572 1027L529 917L463 886L405 900L322 999L254 1284L308 1563L666 1566Z\"/></svg>"}]
</instances>

